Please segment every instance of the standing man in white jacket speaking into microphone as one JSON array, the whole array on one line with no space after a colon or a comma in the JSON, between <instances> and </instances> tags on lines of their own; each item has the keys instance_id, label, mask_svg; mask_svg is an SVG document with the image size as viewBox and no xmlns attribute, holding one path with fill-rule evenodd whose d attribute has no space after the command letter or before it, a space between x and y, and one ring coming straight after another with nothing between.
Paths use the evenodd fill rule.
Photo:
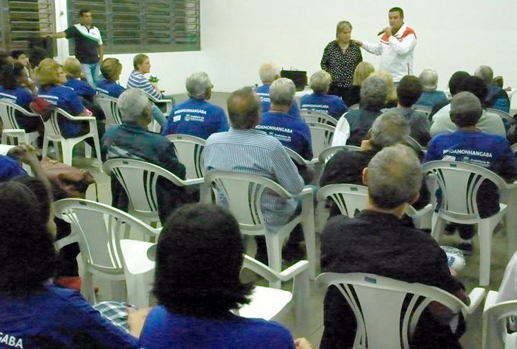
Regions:
<instances>
[{"instance_id":1,"label":"standing man in white jacket speaking into microphone","mask_svg":"<svg viewBox=\"0 0 517 349\"><path fill-rule=\"evenodd\" d=\"M416 46L416 34L404 23L404 11L401 8L389 9L389 26L381 30L379 43L354 42L370 53L380 55L379 69L387 70L393 76L394 83L405 75L413 74L413 51Z\"/></svg>"}]
</instances>

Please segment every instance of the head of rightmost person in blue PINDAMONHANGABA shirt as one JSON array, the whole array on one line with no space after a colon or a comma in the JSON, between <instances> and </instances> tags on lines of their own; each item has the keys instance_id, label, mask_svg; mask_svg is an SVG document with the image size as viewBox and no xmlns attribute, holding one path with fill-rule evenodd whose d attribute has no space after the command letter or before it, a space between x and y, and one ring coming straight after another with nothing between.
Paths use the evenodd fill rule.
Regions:
<instances>
[{"instance_id":1,"label":"head of rightmost person in blue PINDAMONHANGABA shirt","mask_svg":"<svg viewBox=\"0 0 517 349\"><path fill-rule=\"evenodd\" d=\"M459 128L475 126L481 114L481 102L473 93L464 91L452 97L450 116Z\"/></svg>"}]
</instances>

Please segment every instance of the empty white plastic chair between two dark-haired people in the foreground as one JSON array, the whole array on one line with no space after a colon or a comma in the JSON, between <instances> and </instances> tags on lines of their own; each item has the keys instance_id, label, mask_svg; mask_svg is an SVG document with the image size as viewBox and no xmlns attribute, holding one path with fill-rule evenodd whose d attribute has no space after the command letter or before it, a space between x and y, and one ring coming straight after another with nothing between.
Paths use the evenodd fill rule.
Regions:
<instances>
[{"instance_id":1,"label":"empty white plastic chair between two dark-haired people in the foreground","mask_svg":"<svg viewBox=\"0 0 517 349\"><path fill-rule=\"evenodd\" d=\"M110 281L125 280L128 302L149 306L154 263L149 261L146 252L152 244L121 239L128 237L130 230L139 231L147 237L157 237L160 230L95 201L62 199L54 203L54 208L56 217L72 224L72 231L75 232L57 241L56 246L61 248L68 243L79 242L83 259L81 293L85 299L95 303L92 277L96 275ZM117 301L124 298L122 290L120 283L112 284Z\"/></svg>"}]
</instances>

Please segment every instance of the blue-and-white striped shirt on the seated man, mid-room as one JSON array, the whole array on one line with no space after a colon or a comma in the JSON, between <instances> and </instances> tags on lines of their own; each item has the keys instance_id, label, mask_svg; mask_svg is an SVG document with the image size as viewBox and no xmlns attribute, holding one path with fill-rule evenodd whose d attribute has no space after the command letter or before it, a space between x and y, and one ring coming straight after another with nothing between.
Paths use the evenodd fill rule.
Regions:
<instances>
[{"instance_id":1,"label":"blue-and-white striped shirt on the seated man, mid-room","mask_svg":"<svg viewBox=\"0 0 517 349\"><path fill-rule=\"evenodd\" d=\"M265 132L230 128L228 132L208 137L205 150L205 170L249 173L272 179L292 194L303 189L303 179L278 139ZM265 191L261 199L264 225L277 232L294 213L298 199L283 199Z\"/></svg>"}]
</instances>

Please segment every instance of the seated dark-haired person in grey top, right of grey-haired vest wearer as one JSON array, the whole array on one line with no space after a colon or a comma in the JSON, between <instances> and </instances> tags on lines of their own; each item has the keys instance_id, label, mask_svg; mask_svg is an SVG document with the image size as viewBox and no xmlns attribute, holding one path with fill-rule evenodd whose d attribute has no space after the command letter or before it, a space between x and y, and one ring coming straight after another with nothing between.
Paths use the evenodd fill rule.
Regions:
<instances>
[{"instance_id":1,"label":"seated dark-haired person in grey top, right of grey-haired vest wearer","mask_svg":"<svg viewBox=\"0 0 517 349\"><path fill-rule=\"evenodd\" d=\"M418 77L406 75L397 86L398 106L388 111L396 112L409 120L409 136L414 138L420 146L425 147L431 139L429 121L426 114L412 108L420 94L422 94L422 83Z\"/></svg>"}]
</instances>

